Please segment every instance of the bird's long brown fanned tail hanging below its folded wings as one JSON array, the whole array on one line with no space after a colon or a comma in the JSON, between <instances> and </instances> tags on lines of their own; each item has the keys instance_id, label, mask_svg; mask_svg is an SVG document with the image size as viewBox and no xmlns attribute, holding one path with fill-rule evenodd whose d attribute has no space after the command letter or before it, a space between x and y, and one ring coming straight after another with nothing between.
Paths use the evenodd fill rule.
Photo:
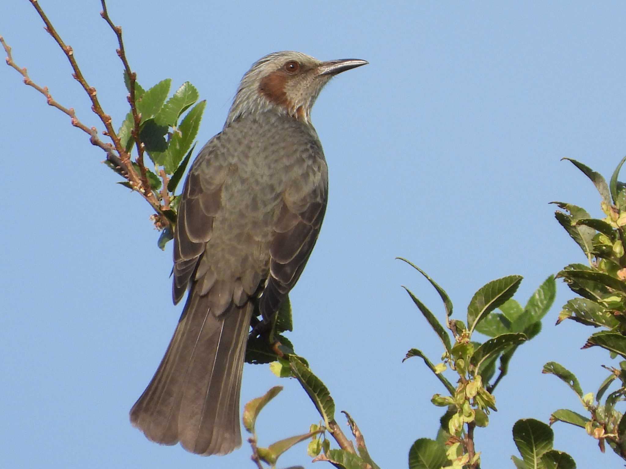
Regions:
<instances>
[{"instance_id":1,"label":"bird's long brown fanned tail hanging below its folded wings","mask_svg":"<svg viewBox=\"0 0 626 469\"><path fill-rule=\"evenodd\" d=\"M190 292L158 370L130 410L131 423L149 440L180 441L207 456L241 445L239 392L254 309L250 302L231 304L216 317L208 295Z\"/></svg>"}]
</instances>

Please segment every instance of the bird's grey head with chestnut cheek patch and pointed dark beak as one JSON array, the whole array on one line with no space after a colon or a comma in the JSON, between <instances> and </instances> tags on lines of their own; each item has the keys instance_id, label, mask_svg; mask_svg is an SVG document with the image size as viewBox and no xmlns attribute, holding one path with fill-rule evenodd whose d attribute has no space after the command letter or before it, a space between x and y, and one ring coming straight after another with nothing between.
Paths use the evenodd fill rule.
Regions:
<instances>
[{"instance_id":1,"label":"bird's grey head with chestnut cheek patch and pointed dark beak","mask_svg":"<svg viewBox=\"0 0 626 469\"><path fill-rule=\"evenodd\" d=\"M277 111L310 124L310 111L324 85L338 73L367 64L359 59L322 62L293 51L275 52L242 78L225 127L247 114Z\"/></svg>"}]
</instances>

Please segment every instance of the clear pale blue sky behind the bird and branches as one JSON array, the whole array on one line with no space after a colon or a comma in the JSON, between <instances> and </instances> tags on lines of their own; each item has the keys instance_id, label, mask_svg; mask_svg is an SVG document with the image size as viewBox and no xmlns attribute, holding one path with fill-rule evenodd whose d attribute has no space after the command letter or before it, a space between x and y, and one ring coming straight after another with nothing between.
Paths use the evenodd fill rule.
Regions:
<instances>
[{"instance_id":1,"label":"clear pale blue sky behind the bird and branches","mask_svg":"<svg viewBox=\"0 0 626 469\"><path fill-rule=\"evenodd\" d=\"M126 91L100 2L41 1L74 49L117 128ZM434 437L442 392L417 347L439 341L401 285L441 317L436 293L403 256L448 290L455 315L487 281L525 277L525 303L550 274L585 262L553 217L554 200L600 215L572 164L605 176L626 153L626 6L586 2L316 2L173 4L114 1L138 81L191 81L207 109L203 144L223 125L250 64L278 50L359 58L322 91L312 119L329 164L321 236L291 295L296 351L357 421L381 467L406 467L416 438ZM0 3L0 34L54 98L97 125L66 58L28 2ZM209 460L148 442L128 410L150 380L180 315L170 301L171 248L156 248L149 206L116 185L69 118L0 67L4 214L0 242L0 454L6 467L251 467L244 443ZM580 350L592 330L555 327L572 293L562 283L541 334L522 346L496 390L498 413L476 432L483 467L512 467L513 423L582 411L546 361L577 373L585 392L612 364ZM614 363L613 363L614 364ZM304 433L319 416L294 380L246 365L242 401L284 391L262 413L260 444ZM338 419L339 420L339 419ZM622 461L582 430L556 425L555 448L578 467ZM312 464L305 445L279 466Z\"/></svg>"}]
</instances>

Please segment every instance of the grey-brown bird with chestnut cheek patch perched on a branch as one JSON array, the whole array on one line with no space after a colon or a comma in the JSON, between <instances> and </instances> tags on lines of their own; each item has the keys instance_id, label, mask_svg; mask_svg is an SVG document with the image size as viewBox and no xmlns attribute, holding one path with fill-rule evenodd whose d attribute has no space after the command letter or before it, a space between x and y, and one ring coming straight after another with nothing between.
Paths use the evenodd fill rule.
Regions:
<instances>
[{"instance_id":1,"label":"grey-brown bird with chestnut cheek patch perched on a branch","mask_svg":"<svg viewBox=\"0 0 626 469\"><path fill-rule=\"evenodd\" d=\"M324 85L361 59L294 51L244 74L223 129L185 179L173 243L172 296L187 301L133 426L199 455L241 445L239 395L252 316L279 310L316 244L328 194L310 119Z\"/></svg>"}]
</instances>

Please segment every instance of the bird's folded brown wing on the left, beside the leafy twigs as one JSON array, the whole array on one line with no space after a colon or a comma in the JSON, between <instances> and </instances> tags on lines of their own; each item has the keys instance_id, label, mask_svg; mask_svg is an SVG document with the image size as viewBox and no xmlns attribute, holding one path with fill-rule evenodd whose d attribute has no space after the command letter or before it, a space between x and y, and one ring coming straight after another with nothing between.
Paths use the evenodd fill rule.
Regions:
<instances>
[{"instance_id":1,"label":"bird's folded brown wing on the left, beside the leafy twigs","mask_svg":"<svg viewBox=\"0 0 626 469\"><path fill-rule=\"evenodd\" d=\"M223 158L212 154L215 148L213 141L215 137L198 154L180 196L174 236L174 303L178 303L185 295L198 260L205 251L207 241L211 239L213 217L222 206L222 185L228 174L228 164ZM200 168L200 163L209 166L210 170Z\"/></svg>"}]
</instances>

